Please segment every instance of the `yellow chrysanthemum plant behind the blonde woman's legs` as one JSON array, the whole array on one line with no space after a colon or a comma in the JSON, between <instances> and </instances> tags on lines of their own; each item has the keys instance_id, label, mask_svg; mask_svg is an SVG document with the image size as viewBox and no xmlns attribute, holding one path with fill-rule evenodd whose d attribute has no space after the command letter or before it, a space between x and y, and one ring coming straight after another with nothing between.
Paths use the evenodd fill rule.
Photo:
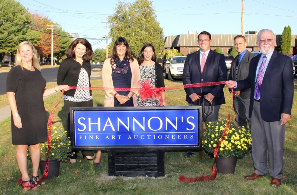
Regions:
<instances>
[{"instance_id":1,"label":"yellow chrysanthemum plant behind the blonde woman's legs","mask_svg":"<svg viewBox=\"0 0 297 195\"><path fill-rule=\"evenodd\" d=\"M48 142L40 144L40 160L46 160L48 150ZM48 159L57 159L64 161L71 155L70 139L66 135L66 131L62 127L53 126L51 130L51 146L48 153ZM30 148L28 148L28 156L30 156Z\"/></svg>"}]
</instances>

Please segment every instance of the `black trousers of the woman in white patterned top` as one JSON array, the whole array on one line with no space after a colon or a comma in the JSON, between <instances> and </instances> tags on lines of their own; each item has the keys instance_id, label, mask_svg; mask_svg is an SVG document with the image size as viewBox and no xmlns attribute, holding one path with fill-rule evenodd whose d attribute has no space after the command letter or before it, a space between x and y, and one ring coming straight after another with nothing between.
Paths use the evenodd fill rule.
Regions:
<instances>
[{"instance_id":1,"label":"black trousers of the woman in white patterned top","mask_svg":"<svg viewBox=\"0 0 297 195\"><path fill-rule=\"evenodd\" d=\"M86 102L71 102L68 100L64 100L64 108L66 111L66 123L67 123L67 137L70 137L70 107L93 107L93 100L86 101ZM71 131L73 131L71 129ZM69 158L76 159L77 158L77 150L72 150L74 152L73 156L69 156ZM81 150L83 156L94 156L94 150Z\"/></svg>"}]
</instances>

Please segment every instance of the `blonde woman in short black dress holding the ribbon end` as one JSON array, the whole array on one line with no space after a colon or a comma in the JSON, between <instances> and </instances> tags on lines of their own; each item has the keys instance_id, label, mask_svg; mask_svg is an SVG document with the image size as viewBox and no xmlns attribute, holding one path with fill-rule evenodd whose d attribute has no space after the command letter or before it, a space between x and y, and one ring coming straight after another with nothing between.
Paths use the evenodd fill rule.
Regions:
<instances>
[{"instance_id":1,"label":"blonde woman in short black dress holding the ribbon end","mask_svg":"<svg viewBox=\"0 0 297 195\"><path fill-rule=\"evenodd\" d=\"M7 97L11 109L12 144L17 145L16 159L22 177L18 184L31 189L37 184L40 161L40 143L47 141L47 119L43 102L59 90L69 90L68 85L45 88L46 81L40 72L37 52L29 41L21 42L15 56L16 66L7 75ZM27 148L30 145L32 179L27 171Z\"/></svg>"}]
</instances>

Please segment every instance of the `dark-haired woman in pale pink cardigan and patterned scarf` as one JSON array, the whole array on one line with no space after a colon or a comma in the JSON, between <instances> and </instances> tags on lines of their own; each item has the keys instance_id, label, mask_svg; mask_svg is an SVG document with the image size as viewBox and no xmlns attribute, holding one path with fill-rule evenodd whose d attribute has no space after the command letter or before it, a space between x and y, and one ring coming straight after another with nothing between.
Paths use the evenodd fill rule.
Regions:
<instances>
[{"instance_id":1,"label":"dark-haired woman in pale pink cardigan and patterned scarf","mask_svg":"<svg viewBox=\"0 0 297 195\"><path fill-rule=\"evenodd\" d=\"M110 58L104 61L102 81L105 89L104 106L137 106L140 72L137 59L131 56L131 49L124 37L119 37L113 46ZM131 88L116 91L114 88Z\"/></svg>"}]
</instances>

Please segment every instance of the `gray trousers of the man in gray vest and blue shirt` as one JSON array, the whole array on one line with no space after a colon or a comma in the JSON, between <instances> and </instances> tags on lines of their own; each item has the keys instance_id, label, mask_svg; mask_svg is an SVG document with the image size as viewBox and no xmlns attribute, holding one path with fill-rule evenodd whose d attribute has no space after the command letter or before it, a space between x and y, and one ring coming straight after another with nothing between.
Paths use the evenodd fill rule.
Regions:
<instances>
[{"instance_id":1,"label":"gray trousers of the man in gray vest and blue shirt","mask_svg":"<svg viewBox=\"0 0 297 195\"><path fill-rule=\"evenodd\" d=\"M247 124L249 123L249 127L251 127L249 121L249 98L242 98L240 96L234 97L233 108L236 115L236 124L244 126L244 128L247 129Z\"/></svg>"}]
</instances>

